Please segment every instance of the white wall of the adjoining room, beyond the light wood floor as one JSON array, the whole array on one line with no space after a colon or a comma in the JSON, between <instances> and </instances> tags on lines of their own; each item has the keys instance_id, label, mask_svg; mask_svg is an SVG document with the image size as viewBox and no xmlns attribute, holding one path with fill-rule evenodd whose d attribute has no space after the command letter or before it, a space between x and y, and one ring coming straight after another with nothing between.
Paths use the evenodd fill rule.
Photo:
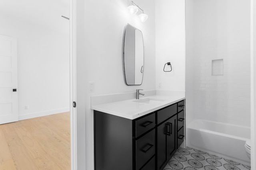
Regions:
<instances>
[{"instance_id":1,"label":"white wall of the adjoining room, beyond the light wood floor","mask_svg":"<svg viewBox=\"0 0 256 170\"><path fill-rule=\"evenodd\" d=\"M68 111L68 29L64 34L4 14L0 23L0 35L18 41L19 120ZM63 26L68 24L66 21Z\"/></svg>"}]
</instances>

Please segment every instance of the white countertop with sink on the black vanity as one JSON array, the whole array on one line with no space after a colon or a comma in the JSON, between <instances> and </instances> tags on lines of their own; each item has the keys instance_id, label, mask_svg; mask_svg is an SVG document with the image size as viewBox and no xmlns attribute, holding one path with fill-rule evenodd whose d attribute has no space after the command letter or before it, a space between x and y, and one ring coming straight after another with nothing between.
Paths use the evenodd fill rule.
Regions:
<instances>
[{"instance_id":1,"label":"white countertop with sink on the black vanity","mask_svg":"<svg viewBox=\"0 0 256 170\"><path fill-rule=\"evenodd\" d=\"M185 99L184 94L175 95L175 96L168 96L168 95L153 95L147 97L141 97L140 100L145 98L153 98L153 99L160 99L164 100L161 102L156 102L153 104L146 104L140 102L134 102L136 99L130 100L123 100L120 102L112 102L100 105L91 106L91 109L101 111L104 113L108 113L111 115L116 115L119 117L124 117L127 119L136 119L158 109L162 109L163 107L169 106L176 102Z\"/></svg>"}]
</instances>

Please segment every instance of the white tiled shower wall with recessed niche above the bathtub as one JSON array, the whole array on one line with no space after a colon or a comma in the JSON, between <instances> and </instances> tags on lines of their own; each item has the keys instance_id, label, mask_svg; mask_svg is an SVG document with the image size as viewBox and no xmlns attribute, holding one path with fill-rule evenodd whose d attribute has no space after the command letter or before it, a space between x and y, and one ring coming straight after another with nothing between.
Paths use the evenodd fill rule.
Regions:
<instances>
[{"instance_id":1,"label":"white tiled shower wall with recessed niche above the bathtub","mask_svg":"<svg viewBox=\"0 0 256 170\"><path fill-rule=\"evenodd\" d=\"M250 0L186 0L186 115L250 126Z\"/></svg>"}]
</instances>

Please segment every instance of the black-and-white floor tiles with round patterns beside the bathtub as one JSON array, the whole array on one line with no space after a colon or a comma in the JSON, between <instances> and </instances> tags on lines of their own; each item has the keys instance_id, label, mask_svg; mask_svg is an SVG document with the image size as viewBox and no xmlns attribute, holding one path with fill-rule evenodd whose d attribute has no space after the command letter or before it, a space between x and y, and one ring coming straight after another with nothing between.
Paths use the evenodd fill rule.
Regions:
<instances>
[{"instance_id":1,"label":"black-and-white floor tiles with round patterns beside the bathtub","mask_svg":"<svg viewBox=\"0 0 256 170\"><path fill-rule=\"evenodd\" d=\"M246 166L232 160L202 152L189 147L179 148L164 170L250 170Z\"/></svg>"}]
</instances>

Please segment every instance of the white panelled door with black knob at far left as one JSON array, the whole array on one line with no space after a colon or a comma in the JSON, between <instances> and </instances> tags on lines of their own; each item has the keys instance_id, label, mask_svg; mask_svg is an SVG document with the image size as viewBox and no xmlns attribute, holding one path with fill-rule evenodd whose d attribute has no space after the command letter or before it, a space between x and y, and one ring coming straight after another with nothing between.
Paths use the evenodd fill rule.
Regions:
<instances>
[{"instance_id":1,"label":"white panelled door with black knob at far left","mask_svg":"<svg viewBox=\"0 0 256 170\"><path fill-rule=\"evenodd\" d=\"M18 121L17 39L0 35L0 124Z\"/></svg>"}]
</instances>

